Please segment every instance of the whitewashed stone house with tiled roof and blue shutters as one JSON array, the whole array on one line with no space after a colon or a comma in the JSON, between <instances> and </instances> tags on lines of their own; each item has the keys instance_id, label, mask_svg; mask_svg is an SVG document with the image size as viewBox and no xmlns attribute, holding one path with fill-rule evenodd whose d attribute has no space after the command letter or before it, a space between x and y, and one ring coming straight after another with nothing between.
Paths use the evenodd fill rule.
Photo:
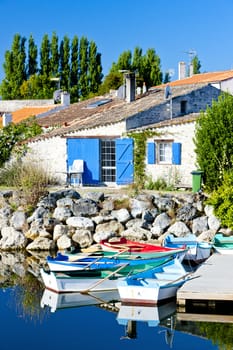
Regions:
<instances>
[{"instance_id":1,"label":"whitewashed stone house with tiled roof and blue shutters","mask_svg":"<svg viewBox=\"0 0 233 350\"><path fill-rule=\"evenodd\" d=\"M126 97L113 92L67 106L38 118L44 134L28 141L24 161L40 164L65 183L74 160L83 185L124 185L134 180L134 141L130 132L151 130L146 173L192 187L198 166L193 137L195 120L217 100L233 92L233 71L197 74L135 95L134 77L126 76ZM81 164L81 163L80 163ZM69 178L70 179L70 178ZM71 180L72 181L72 180Z\"/></svg>"}]
</instances>

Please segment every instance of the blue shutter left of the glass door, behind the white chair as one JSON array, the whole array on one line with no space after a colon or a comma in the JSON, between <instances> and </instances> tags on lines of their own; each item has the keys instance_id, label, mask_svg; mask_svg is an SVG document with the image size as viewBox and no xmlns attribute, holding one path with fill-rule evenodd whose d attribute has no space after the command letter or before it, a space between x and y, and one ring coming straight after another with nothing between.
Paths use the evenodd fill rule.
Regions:
<instances>
[{"instance_id":1,"label":"blue shutter left of the glass door, behind the white chair","mask_svg":"<svg viewBox=\"0 0 233 350\"><path fill-rule=\"evenodd\" d=\"M83 184L100 183L100 140L99 139L67 139L67 166L74 159L83 159Z\"/></svg>"}]
</instances>

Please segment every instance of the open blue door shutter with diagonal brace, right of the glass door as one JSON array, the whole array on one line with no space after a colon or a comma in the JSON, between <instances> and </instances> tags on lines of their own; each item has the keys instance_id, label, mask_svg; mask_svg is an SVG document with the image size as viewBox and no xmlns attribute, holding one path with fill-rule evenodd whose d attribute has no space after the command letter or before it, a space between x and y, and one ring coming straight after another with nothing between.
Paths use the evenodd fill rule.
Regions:
<instances>
[{"instance_id":1,"label":"open blue door shutter with diagonal brace, right of the glass door","mask_svg":"<svg viewBox=\"0 0 233 350\"><path fill-rule=\"evenodd\" d=\"M116 139L116 183L133 183L133 139Z\"/></svg>"}]
</instances>

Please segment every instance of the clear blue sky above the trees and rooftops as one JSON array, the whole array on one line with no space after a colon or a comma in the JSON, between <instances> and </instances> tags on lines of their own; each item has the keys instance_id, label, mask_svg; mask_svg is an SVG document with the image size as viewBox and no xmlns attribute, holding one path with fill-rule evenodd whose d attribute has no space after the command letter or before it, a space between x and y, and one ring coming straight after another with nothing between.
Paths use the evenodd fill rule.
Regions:
<instances>
[{"instance_id":1,"label":"clear blue sky above the trees and rooftops","mask_svg":"<svg viewBox=\"0 0 233 350\"><path fill-rule=\"evenodd\" d=\"M40 48L45 34L93 40L103 73L136 46L155 49L163 73L189 62L196 51L201 72L233 69L233 0L0 0L0 82L16 33Z\"/></svg>"}]
</instances>

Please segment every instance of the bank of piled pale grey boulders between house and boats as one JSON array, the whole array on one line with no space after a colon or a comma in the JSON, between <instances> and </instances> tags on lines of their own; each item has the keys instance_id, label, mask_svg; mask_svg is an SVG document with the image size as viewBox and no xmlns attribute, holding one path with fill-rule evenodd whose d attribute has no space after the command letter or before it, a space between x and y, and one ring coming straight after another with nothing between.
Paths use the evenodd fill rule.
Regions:
<instances>
[{"instance_id":1,"label":"bank of piled pale grey boulders between house and boats","mask_svg":"<svg viewBox=\"0 0 233 350\"><path fill-rule=\"evenodd\" d=\"M64 189L48 193L28 216L15 191L0 192L0 250L51 251L88 248L100 240L124 236L162 243L173 233L193 233L212 241L221 223L203 193Z\"/></svg>"}]
</instances>

